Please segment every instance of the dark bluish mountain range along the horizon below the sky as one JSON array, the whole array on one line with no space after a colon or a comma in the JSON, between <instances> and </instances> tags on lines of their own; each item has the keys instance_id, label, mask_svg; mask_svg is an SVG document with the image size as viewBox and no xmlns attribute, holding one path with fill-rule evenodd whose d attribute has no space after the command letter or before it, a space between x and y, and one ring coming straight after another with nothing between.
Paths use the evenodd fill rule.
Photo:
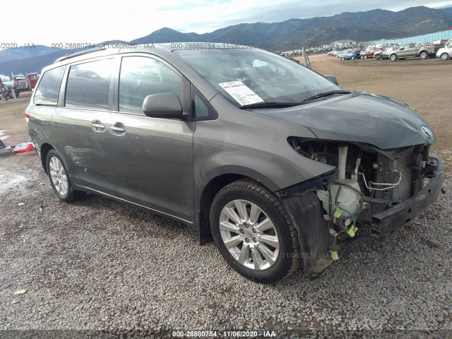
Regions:
<instances>
[{"instance_id":1,"label":"dark bluish mountain range along the horizon below the sky","mask_svg":"<svg viewBox=\"0 0 452 339\"><path fill-rule=\"evenodd\" d=\"M374 9L356 13L345 12L330 17L290 19L281 23L240 23L204 34L182 33L171 28L162 28L145 37L131 40L130 43L226 42L275 52L329 44L334 40L365 42L410 37L446 30L450 26L452 8L418 6L398 12ZM40 45L32 48L4 49L0 51L0 73L40 72L42 67L52 64L58 57L77 50Z\"/></svg>"}]
</instances>

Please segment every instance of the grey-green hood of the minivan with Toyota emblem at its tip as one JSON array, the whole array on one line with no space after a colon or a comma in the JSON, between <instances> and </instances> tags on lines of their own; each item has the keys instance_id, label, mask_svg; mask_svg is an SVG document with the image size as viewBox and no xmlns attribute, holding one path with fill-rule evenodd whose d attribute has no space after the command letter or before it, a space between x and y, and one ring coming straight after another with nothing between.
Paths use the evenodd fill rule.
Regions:
<instances>
[{"instance_id":1,"label":"grey-green hood of the minivan with Toyota emblem at its tip","mask_svg":"<svg viewBox=\"0 0 452 339\"><path fill-rule=\"evenodd\" d=\"M415 109L400 100L355 91L307 105L285 109L254 109L276 119L301 124L317 138L368 143L382 150L427 143L432 127Z\"/></svg>"}]
</instances>

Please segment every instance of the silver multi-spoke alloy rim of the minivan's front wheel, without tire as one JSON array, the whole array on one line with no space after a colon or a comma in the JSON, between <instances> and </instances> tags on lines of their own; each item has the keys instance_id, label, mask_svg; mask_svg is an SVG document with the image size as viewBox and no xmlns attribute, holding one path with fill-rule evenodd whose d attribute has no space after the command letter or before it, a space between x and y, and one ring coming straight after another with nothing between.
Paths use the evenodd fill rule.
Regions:
<instances>
[{"instance_id":1,"label":"silver multi-spoke alloy rim of the minivan's front wheel, without tire","mask_svg":"<svg viewBox=\"0 0 452 339\"><path fill-rule=\"evenodd\" d=\"M220 213L220 234L233 258L247 268L266 270L278 259L275 225L255 203L234 200Z\"/></svg>"}]
</instances>

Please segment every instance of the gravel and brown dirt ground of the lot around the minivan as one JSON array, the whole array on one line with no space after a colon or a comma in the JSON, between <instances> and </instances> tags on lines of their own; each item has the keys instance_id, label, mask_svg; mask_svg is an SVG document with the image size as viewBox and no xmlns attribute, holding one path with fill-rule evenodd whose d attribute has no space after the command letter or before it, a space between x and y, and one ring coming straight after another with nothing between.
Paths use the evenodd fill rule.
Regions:
<instances>
[{"instance_id":1,"label":"gravel and brown dirt ground of the lot around the minivan","mask_svg":"<svg viewBox=\"0 0 452 339\"><path fill-rule=\"evenodd\" d=\"M415 107L432 124L433 153L451 172L452 60L310 59L345 89ZM28 141L29 98L0 102L6 145ZM445 186L452 188L450 179ZM0 330L361 330L388 338L385 331L409 329L448 331L437 332L446 338L451 211L448 192L386 244L350 244L318 280L299 270L263 286L234 273L213 244L199 246L179 222L92 194L59 203L37 155L0 155ZM27 292L14 296L20 289Z\"/></svg>"}]
</instances>

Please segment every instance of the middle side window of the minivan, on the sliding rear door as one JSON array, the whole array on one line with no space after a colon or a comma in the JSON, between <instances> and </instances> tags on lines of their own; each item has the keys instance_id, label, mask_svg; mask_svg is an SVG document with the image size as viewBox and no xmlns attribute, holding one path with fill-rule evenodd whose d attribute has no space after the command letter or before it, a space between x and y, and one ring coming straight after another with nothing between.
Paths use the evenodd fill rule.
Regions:
<instances>
[{"instance_id":1,"label":"middle side window of the minivan, on the sliding rear door","mask_svg":"<svg viewBox=\"0 0 452 339\"><path fill-rule=\"evenodd\" d=\"M113 59L71 66L66 85L66 107L108 109Z\"/></svg>"}]
</instances>

